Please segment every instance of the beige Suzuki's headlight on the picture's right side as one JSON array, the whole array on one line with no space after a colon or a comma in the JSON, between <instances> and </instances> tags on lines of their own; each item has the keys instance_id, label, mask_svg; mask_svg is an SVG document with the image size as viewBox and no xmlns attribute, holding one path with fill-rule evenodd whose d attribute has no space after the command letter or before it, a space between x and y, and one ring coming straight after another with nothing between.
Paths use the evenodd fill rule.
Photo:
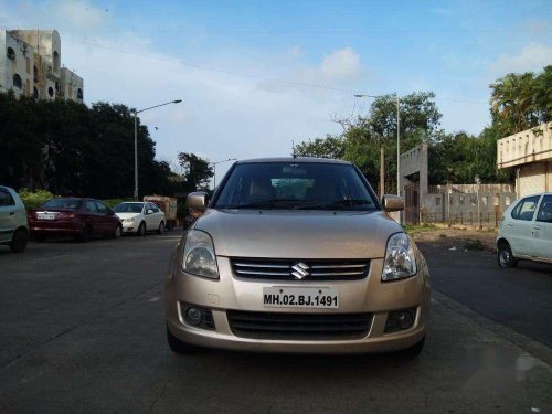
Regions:
<instances>
[{"instance_id":1,"label":"beige Suzuki's headlight on the picture's right side","mask_svg":"<svg viewBox=\"0 0 552 414\"><path fill-rule=\"evenodd\" d=\"M403 279L416 274L416 257L408 236L396 233L389 237L385 262L381 279L383 282Z\"/></svg>"}]
</instances>

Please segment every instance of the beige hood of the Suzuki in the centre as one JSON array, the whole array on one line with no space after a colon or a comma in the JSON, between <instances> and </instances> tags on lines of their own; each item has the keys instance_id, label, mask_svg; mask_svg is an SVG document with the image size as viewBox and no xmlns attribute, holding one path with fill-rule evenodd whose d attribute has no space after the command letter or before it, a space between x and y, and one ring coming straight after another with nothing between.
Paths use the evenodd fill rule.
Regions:
<instances>
[{"instance_id":1,"label":"beige hood of the Suzuki in the centre","mask_svg":"<svg viewBox=\"0 0 552 414\"><path fill-rule=\"evenodd\" d=\"M385 213L208 210L194 229L211 235L216 255L280 258L375 258L402 227Z\"/></svg>"}]
</instances>

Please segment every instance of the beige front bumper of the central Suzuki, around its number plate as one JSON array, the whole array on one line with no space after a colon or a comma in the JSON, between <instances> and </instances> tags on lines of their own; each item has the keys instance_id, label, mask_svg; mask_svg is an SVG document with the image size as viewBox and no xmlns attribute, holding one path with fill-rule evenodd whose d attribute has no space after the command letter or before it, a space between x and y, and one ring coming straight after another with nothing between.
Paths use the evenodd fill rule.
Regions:
<instances>
[{"instance_id":1,"label":"beige front bumper of the central Suzuki, around its number plate","mask_svg":"<svg viewBox=\"0 0 552 414\"><path fill-rule=\"evenodd\" d=\"M383 259L372 259L369 276L348 282L267 282L244 280L232 274L230 259L217 257L221 278L211 280L183 273L173 259L166 282L167 325L172 335L183 342L209 348L301 353L362 353L388 352L414 346L425 335L429 315L429 274L427 266L416 276L404 280L382 283ZM263 287L316 286L332 287L339 291L339 309L266 308L262 305ZM180 304L209 308L213 314L214 330L188 325ZM415 308L411 328L385 333L388 314L392 310ZM357 339L252 339L236 336L226 316L227 310L270 311L284 314L372 314L368 335Z\"/></svg>"}]
</instances>

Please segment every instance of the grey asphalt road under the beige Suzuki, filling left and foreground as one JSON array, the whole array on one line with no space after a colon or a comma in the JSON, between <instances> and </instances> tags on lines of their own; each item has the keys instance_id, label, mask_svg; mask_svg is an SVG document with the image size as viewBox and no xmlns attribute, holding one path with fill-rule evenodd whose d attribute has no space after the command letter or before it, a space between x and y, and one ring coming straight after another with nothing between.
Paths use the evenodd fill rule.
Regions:
<instances>
[{"instance_id":1,"label":"grey asphalt road under the beige Suzuki, filling left and foreground","mask_svg":"<svg viewBox=\"0 0 552 414\"><path fill-rule=\"evenodd\" d=\"M414 361L177 357L166 344L162 282L178 236L0 250L0 413L552 413L551 365L437 291ZM474 272L471 256L440 263L442 254L428 254L437 289L452 286L442 279L453 259Z\"/></svg>"}]
</instances>

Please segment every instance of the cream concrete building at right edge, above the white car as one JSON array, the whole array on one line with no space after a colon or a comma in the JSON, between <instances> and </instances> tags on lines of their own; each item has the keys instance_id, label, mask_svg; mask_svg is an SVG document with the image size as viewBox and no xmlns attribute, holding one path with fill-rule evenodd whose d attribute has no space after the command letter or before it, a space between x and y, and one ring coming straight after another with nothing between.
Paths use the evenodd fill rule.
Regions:
<instances>
[{"instance_id":1,"label":"cream concrete building at right edge, above the white car","mask_svg":"<svg viewBox=\"0 0 552 414\"><path fill-rule=\"evenodd\" d=\"M497 167L516 169L518 198L552 191L552 123L499 139Z\"/></svg>"}]
</instances>

